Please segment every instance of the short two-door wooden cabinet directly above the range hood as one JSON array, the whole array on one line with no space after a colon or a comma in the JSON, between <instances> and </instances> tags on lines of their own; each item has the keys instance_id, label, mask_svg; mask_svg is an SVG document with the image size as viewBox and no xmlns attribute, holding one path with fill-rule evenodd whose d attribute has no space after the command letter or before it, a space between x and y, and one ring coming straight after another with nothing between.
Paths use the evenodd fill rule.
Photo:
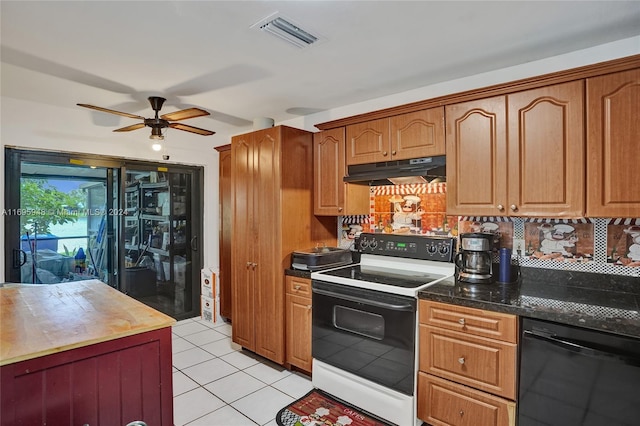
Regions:
<instances>
[{"instance_id":1,"label":"short two-door wooden cabinet directly above the range hood","mask_svg":"<svg viewBox=\"0 0 640 426\"><path fill-rule=\"evenodd\" d=\"M444 108L352 124L346 137L348 166L444 155Z\"/></svg>"}]
</instances>

